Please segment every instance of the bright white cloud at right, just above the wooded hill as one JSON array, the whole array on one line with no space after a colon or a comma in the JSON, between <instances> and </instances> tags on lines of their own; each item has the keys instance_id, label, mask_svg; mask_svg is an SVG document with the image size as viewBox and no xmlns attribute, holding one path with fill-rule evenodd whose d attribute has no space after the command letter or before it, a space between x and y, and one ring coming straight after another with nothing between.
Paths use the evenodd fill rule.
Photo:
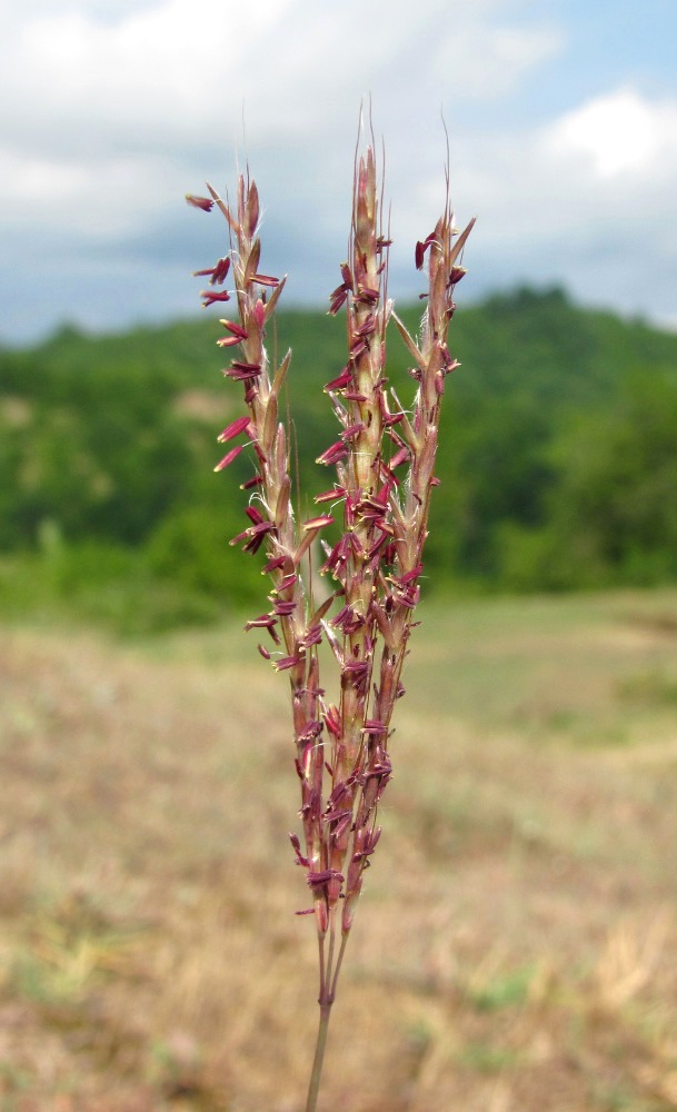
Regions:
<instances>
[{"instance_id":1,"label":"bright white cloud at right, just above the wooded hill","mask_svg":"<svg viewBox=\"0 0 677 1112\"><path fill-rule=\"evenodd\" d=\"M501 242L611 229L614 244L657 221L671 238L677 100L651 101L624 88L546 126L465 132L457 155L455 193ZM424 185L426 203L434 189Z\"/></svg>"}]
</instances>

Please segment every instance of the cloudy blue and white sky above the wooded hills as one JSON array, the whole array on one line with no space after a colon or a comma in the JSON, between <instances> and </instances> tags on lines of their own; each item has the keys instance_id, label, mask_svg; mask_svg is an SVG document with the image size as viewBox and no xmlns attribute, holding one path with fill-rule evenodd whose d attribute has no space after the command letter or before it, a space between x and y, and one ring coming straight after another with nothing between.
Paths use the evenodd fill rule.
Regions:
<instances>
[{"instance_id":1,"label":"cloudy blue and white sky above the wooded hills","mask_svg":"<svg viewBox=\"0 0 677 1112\"><path fill-rule=\"evenodd\" d=\"M325 306L370 106L389 292L445 203L477 217L457 300L562 286L677 328L677 2L22 0L0 14L0 342L199 311L191 272L249 166L261 269ZM444 117L444 123L442 123Z\"/></svg>"}]
</instances>

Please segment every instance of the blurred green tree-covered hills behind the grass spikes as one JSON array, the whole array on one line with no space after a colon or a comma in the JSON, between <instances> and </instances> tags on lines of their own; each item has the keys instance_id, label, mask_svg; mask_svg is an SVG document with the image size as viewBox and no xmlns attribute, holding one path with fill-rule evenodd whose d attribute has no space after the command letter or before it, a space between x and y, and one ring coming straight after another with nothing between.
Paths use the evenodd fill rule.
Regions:
<instances>
[{"instance_id":1,"label":"blurred green tree-covered hills behind the grass spikes","mask_svg":"<svg viewBox=\"0 0 677 1112\"><path fill-rule=\"evenodd\" d=\"M412 328L418 311L402 314ZM216 436L243 411L220 375L219 335L205 314L99 338L64 328L0 353L7 566L44 564L46 553L53 564L58 552L73 590L142 567L147 587L179 585L198 610L260 593L253 562L227 544L242 527L250 460L212 469ZM580 309L557 289L461 304L451 336L461 367L447 385L431 582L677 579L677 336ZM336 434L322 387L346 363L345 322L281 312L269 348L288 347L300 485L317 492L328 476L313 460ZM390 381L405 401L414 384L395 330Z\"/></svg>"}]
</instances>

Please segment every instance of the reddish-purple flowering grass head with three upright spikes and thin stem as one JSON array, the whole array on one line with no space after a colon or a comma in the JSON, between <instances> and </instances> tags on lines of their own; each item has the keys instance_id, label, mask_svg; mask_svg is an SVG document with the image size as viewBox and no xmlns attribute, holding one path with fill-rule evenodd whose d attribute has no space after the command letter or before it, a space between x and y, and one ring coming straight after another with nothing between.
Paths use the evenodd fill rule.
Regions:
<instances>
[{"instance_id":1,"label":"reddish-purple flowering grass head with three upright spikes and thin stem","mask_svg":"<svg viewBox=\"0 0 677 1112\"><path fill-rule=\"evenodd\" d=\"M243 484L248 525L231 544L248 553L265 550L270 608L246 628L266 633L259 652L290 683L302 826L290 837L306 873L307 913L315 917L319 944L320 1023L306 1105L313 1112L346 944L381 834L378 806L391 777L391 718L404 694L402 666L437 485L440 407L447 376L458 366L447 334L472 221L460 234L454 227L447 176L444 212L416 245L415 262L427 270L427 289L420 336L412 337L387 296L390 239L372 146L356 160L349 258L329 307L331 315L345 310L347 320L346 364L325 386L339 433L318 458L335 478L316 498L320 512L300 520L292 500L289 433L279 419L291 353L275 366L266 350L285 278L261 271L259 195L249 175L239 179L235 205L208 190L208 197L191 195L188 201L221 211L229 249L197 274L208 279L203 305L233 310L221 320L218 344L232 353L223 375L241 384L246 407L219 436L226 454L216 470L227 468L246 445L252 448L255 474ZM411 361L416 391L409 408L388 384L390 324ZM323 535L331 536L332 526L338 539L328 543ZM321 598L313 574L316 538L323 550L319 572L331 584ZM322 641L337 666L333 696L320 679Z\"/></svg>"}]
</instances>

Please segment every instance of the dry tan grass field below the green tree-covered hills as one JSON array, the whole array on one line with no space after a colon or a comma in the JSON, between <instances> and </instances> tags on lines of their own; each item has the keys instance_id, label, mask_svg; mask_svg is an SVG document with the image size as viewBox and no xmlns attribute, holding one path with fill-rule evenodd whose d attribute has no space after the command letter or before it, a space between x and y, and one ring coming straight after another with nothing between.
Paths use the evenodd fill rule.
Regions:
<instances>
[{"instance_id":1,"label":"dry tan grass field below the green tree-covered hills","mask_svg":"<svg viewBox=\"0 0 677 1112\"><path fill-rule=\"evenodd\" d=\"M677 593L424 617L322 1112L677 1109ZM0 632L2 1112L300 1112L286 696L239 627Z\"/></svg>"}]
</instances>

